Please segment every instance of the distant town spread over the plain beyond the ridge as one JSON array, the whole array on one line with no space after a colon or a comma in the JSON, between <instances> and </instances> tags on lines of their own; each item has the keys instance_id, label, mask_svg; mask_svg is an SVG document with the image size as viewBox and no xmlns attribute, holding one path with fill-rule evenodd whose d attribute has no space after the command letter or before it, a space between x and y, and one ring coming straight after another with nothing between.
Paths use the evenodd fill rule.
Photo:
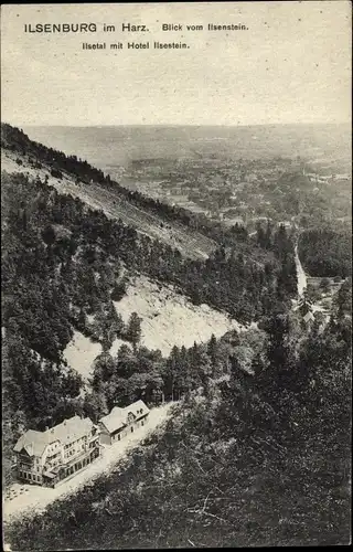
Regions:
<instances>
[{"instance_id":1,"label":"distant town spread over the plain beyond the ridge","mask_svg":"<svg viewBox=\"0 0 353 552\"><path fill-rule=\"evenodd\" d=\"M225 226L238 224L252 231L267 219L291 226L299 213L306 226L310 203L331 194L335 219L350 220L345 197L352 180L345 164L281 157L256 161L199 157L140 159L129 168L106 170L130 190L203 213ZM303 184L304 197L298 194Z\"/></svg>"}]
</instances>

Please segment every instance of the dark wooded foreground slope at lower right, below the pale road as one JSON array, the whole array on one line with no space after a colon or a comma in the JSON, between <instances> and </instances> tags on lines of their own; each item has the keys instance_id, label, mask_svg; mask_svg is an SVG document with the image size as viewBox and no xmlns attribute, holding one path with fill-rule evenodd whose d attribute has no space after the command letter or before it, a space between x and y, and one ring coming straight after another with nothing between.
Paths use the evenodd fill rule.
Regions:
<instances>
[{"instance_id":1,"label":"dark wooded foreground slope at lower right, below the pale road","mask_svg":"<svg viewBox=\"0 0 353 552\"><path fill-rule=\"evenodd\" d=\"M210 342L210 364L233 359L229 378L203 373L120 470L14 522L13 548L347 544L351 321L302 335L275 316L265 333L253 375L225 354L249 343Z\"/></svg>"}]
</instances>

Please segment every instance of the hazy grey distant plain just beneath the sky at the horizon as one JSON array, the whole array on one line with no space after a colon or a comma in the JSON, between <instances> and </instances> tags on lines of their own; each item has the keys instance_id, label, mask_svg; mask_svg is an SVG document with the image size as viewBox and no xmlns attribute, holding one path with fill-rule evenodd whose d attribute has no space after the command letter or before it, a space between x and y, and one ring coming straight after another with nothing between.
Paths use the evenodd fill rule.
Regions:
<instances>
[{"instance_id":1,"label":"hazy grey distant plain just beneath the sky at the horizon","mask_svg":"<svg viewBox=\"0 0 353 552\"><path fill-rule=\"evenodd\" d=\"M137 159L182 159L196 155L265 159L324 155L347 158L345 124L278 125L21 125L40 144L87 159L99 168Z\"/></svg>"}]
</instances>

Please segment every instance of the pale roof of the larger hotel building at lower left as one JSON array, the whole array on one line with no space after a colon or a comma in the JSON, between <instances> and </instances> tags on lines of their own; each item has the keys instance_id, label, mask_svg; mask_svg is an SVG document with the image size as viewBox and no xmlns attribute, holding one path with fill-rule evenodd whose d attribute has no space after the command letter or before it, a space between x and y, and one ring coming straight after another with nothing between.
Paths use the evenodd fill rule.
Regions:
<instances>
[{"instance_id":1,"label":"pale roof of the larger hotel building at lower left","mask_svg":"<svg viewBox=\"0 0 353 552\"><path fill-rule=\"evenodd\" d=\"M41 456L46 445L55 440L60 440L63 445L73 443L87 435L93 425L88 417L73 416L45 432L29 429L19 438L13 450L20 453L24 448L29 456Z\"/></svg>"}]
</instances>

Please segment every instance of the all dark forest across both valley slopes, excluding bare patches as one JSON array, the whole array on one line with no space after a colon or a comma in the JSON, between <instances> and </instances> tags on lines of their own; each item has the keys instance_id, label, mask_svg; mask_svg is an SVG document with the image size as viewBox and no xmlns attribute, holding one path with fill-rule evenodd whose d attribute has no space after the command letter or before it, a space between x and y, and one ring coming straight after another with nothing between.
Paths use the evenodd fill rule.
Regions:
<instances>
[{"instance_id":1,"label":"all dark forest across both valley slopes, excluding bare patches","mask_svg":"<svg viewBox=\"0 0 353 552\"><path fill-rule=\"evenodd\" d=\"M66 170L115 185L86 162L30 144L21 131L4 132L7 148L47 163L57 178ZM1 194L4 485L13 443L28 428L74 414L97 421L137 399L180 401L165 432L132 452L120 474L8 527L11 546L345 543L351 279L330 322L308 330L289 308L297 279L285 226L259 224L252 237L210 227L217 250L192 261L40 178L2 173ZM335 253L344 264L345 250ZM311 254L308 246L306 262ZM137 314L128 322L119 315L133 274L258 327L163 358L141 347ZM101 344L88 385L63 357L74 330ZM128 344L111 355L116 338Z\"/></svg>"}]
</instances>

